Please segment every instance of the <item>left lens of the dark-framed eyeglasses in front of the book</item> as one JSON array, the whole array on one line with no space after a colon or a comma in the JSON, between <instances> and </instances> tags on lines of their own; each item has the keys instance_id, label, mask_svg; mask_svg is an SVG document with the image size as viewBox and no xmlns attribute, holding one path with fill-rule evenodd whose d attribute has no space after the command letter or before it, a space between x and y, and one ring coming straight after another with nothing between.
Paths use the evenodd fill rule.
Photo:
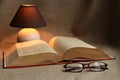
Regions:
<instances>
[{"instance_id":1,"label":"left lens of the dark-framed eyeglasses in front of the book","mask_svg":"<svg viewBox=\"0 0 120 80\"><path fill-rule=\"evenodd\" d=\"M80 63L66 64L65 69L70 72L81 72L83 70L83 65Z\"/></svg>"}]
</instances>

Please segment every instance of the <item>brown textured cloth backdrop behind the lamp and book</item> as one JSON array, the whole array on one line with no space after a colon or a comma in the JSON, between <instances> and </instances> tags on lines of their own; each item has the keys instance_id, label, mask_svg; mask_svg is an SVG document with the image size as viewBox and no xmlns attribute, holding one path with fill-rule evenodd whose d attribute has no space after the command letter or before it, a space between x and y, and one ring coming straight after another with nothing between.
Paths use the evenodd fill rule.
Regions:
<instances>
[{"instance_id":1,"label":"brown textured cloth backdrop behind the lamp and book","mask_svg":"<svg viewBox=\"0 0 120 80\"><path fill-rule=\"evenodd\" d=\"M119 43L119 0L0 0L0 40L16 42L20 29L9 24L23 3L35 4L46 20L48 25L37 29L45 41L76 35L91 42Z\"/></svg>"}]
</instances>

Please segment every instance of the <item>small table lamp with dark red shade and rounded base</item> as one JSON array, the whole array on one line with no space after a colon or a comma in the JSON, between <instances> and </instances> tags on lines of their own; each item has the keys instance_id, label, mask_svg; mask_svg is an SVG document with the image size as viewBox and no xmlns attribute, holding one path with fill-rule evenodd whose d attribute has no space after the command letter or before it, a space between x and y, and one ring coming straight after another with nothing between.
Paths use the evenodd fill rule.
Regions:
<instances>
[{"instance_id":1,"label":"small table lamp with dark red shade and rounded base","mask_svg":"<svg viewBox=\"0 0 120 80\"><path fill-rule=\"evenodd\" d=\"M46 25L39 10L33 4L22 4L10 23L10 26L23 28L18 32L17 42L40 39L39 32L34 28Z\"/></svg>"}]
</instances>

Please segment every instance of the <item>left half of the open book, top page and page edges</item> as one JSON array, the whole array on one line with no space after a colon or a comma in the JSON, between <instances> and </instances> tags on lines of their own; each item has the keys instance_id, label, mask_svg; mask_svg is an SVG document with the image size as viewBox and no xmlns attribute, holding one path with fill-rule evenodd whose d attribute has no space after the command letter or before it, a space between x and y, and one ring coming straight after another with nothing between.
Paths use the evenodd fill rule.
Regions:
<instances>
[{"instance_id":1,"label":"left half of the open book, top page and page edges","mask_svg":"<svg viewBox=\"0 0 120 80\"><path fill-rule=\"evenodd\" d=\"M5 54L10 54L6 57L7 66L47 64L61 60L61 56L43 40L16 43Z\"/></svg>"}]
</instances>

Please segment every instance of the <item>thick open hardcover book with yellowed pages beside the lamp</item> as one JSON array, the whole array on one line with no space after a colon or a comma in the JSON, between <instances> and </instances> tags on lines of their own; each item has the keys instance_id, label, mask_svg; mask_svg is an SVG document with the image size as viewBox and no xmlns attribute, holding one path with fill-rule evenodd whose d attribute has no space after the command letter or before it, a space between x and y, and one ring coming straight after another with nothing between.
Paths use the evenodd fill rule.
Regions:
<instances>
[{"instance_id":1,"label":"thick open hardcover book with yellowed pages beside the lamp","mask_svg":"<svg viewBox=\"0 0 120 80\"><path fill-rule=\"evenodd\" d=\"M109 60L113 57L72 37L57 36L49 41L32 40L14 44L4 51L4 67L57 64L66 60Z\"/></svg>"}]
</instances>

